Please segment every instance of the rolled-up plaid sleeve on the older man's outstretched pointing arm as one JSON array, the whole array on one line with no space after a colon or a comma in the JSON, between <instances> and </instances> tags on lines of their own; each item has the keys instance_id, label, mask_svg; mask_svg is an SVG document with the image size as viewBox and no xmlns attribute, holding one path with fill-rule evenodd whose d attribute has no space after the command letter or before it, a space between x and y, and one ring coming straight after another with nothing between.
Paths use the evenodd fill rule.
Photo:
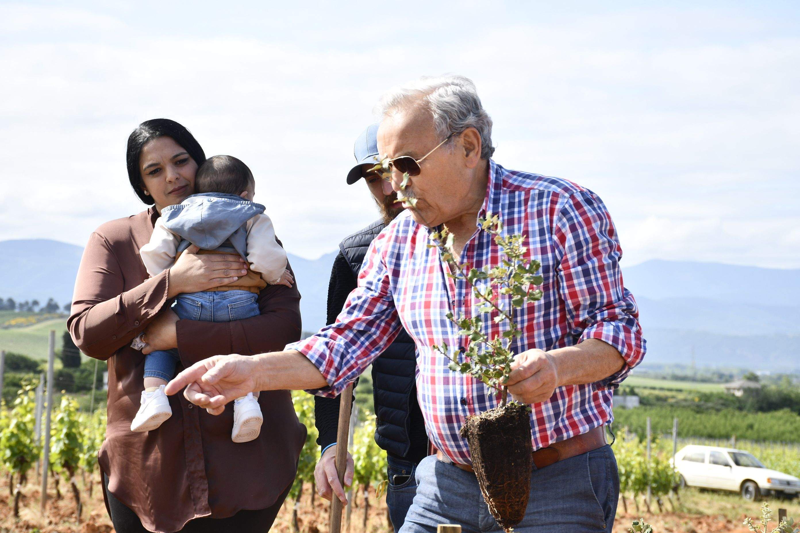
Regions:
<instances>
[{"instance_id":1,"label":"rolled-up plaid sleeve on the older man's outstretched pointing arm","mask_svg":"<svg viewBox=\"0 0 800 533\"><path fill-rule=\"evenodd\" d=\"M390 272L382 257L383 234L374 239L358 276L358 287L334 324L306 340L288 344L316 366L328 387L309 390L334 397L378 358L400 332L398 312L390 288Z\"/></svg>"}]
</instances>

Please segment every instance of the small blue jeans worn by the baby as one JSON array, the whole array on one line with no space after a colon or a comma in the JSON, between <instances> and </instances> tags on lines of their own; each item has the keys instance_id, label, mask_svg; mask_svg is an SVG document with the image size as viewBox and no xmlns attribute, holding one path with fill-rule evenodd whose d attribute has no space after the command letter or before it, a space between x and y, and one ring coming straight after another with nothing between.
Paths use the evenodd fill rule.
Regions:
<instances>
[{"instance_id":1,"label":"small blue jeans worn by the baby","mask_svg":"<svg viewBox=\"0 0 800 533\"><path fill-rule=\"evenodd\" d=\"M179 294L172 310L179 318L232 322L260 314L258 294L250 291L205 291ZM145 377L169 381L175 377L178 350L158 350L145 356Z\"/></svg>"}]
</instances>

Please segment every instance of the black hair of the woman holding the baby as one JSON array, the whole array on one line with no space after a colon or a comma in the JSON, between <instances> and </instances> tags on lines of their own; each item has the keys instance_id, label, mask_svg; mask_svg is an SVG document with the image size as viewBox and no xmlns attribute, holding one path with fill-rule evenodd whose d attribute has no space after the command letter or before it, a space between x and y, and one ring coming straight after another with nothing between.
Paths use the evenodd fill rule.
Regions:
<instances>
[{"instance_id":1,"label":"black hair of the woman holding the baby","mask_svg":"<svg viewBox=\"0 0 800 533\"><path fill-rule=\"evenodd\" d=\"M147 205L153 204L153 197L147 196L142 189L142 173L139 171L139 157L142 155L142 148L148 142L158 137L170 137L173 141L181 145L198 166L206 161L206 153L202 151L200 143L194 138L188 129L170 121L169 118L154 118L144 121L138 125L128 137L128 150L126 161L128 164L128 179L130 186L134 188L134 193L141 201Z\"/></svg>"}]
</instances>

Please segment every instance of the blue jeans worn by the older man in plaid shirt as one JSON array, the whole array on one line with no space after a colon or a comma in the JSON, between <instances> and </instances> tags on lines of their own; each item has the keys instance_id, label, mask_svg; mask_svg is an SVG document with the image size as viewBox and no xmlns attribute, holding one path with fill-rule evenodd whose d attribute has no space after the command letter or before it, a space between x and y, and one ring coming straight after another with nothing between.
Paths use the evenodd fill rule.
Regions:
<instances>
[{"instance_id":1,"label":"blue jeans worn by the older man in plaid shirt","mask_svg":"<svg viewBox=\"0 0 800 533\"><path fill-rule=\"evenodd\" d=\"M417 467L417 485L401 533L434 533L440 523L461 524L464 533L502 531L473 473L429 455ZM541 470L534 467L525 518L514 531L611 533L618 497L617 460L608 445Z\"/></svg>"}]
</instances>

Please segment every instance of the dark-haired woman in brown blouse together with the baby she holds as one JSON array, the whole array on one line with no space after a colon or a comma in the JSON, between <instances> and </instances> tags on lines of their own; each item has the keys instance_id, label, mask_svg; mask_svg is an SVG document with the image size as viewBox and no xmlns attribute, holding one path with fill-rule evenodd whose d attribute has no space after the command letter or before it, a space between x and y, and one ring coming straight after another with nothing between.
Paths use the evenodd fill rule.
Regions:
<instances>
[{"instance_id":1,"label":"dark-haired woman in brown blouse together with the baby she holds","mask_svg":"<svg viewBox=\"0 0 800 533\"><path fill-rule=\"evenodd\" d=\"M300 338L300 294L288 273L280 275L288 268L285 254L274 233L269 246L258 242L266 225L271 232L263 206L252 201L251 189L196 195L204 161L198 141L177 122L139 125L128 139L128 176L150 208L101 225L90 236L78 270L68 326L82 352L108 361L108 428L99 462L118 533L268 531L294 481L305 442L289 392L243 399L255 406L248 408L255 410L258 426L270 431L236 440L234 408L211 416L182 396L155 405L155 396L162 401L158 387L145 387L152 353L160 354L157 368L168 376L175 365L187 367L219 354L270 352ZM226 178L226 169L202 170L212 183ZM234 170L246 184L250 170L241 161ZM232 233L217 231L222 237L208 245L213 249L198 249L190 242L195 234L190 209L206 209L202 213L230 222L225 206L238 213L232 224L241 225L229 223ZM242 209L250 214L242 216ZM142 248L150 258L147 265ZM176 297L183 303L170 308ZM230 309L230 316L221 317L220 309ZM134 340L143 341L141 351L131 346ZM150 385L160 383L153 383L158 375L148 372ZM137 413L139 420L150 418L134 424ZM252 415L248 412L248 420Z\"/></svg>"}]
</instances>

